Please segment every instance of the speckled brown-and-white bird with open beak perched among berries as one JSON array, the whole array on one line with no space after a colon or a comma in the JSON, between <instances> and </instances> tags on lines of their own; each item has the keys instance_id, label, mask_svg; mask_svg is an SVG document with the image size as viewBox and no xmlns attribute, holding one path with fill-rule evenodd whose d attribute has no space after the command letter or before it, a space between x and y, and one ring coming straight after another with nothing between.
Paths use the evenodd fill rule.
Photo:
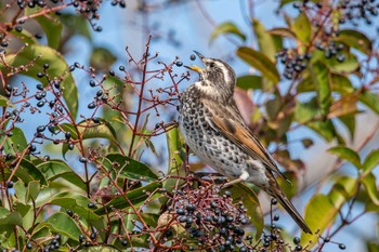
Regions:
<instances>
[{"instance_id":1,"label":"speckled brown-and-white bird with open beak perched among berries","mask_svg":"<svg viewBox=\"0 0 379 252\"><path fill-rule=\"evenodd\" d=\"M194 52L205 67L185 66L199 79L180 96L178 124L184 142L204 163L227 177L228 185L254 184L277 199L304 233L312 234L275 178L285 176L243 120L233 96L235 71L222 59Z\"/></svg>"}]
</instances>

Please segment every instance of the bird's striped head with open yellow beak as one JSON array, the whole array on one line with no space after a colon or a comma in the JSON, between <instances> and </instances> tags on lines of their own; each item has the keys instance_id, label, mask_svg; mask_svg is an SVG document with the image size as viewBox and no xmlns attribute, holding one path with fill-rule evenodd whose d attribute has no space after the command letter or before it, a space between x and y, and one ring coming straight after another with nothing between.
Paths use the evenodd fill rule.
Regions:
<instances>
[{"instance_id":1,"label":"bird's striped head with open yellow beak","mask_svg":"<svg viewBox=\"0 0 379 252\"><path fill-rule=\"evenodd\" d=\"M208 94L220 94L224 98L232 97L236 84L236 75L233 68L221 59L205 57L196 51L195 53L205 66L186 66L199 74L199 82L196 84L200 85L199 88Z\"/></svg>"}]
</instances>

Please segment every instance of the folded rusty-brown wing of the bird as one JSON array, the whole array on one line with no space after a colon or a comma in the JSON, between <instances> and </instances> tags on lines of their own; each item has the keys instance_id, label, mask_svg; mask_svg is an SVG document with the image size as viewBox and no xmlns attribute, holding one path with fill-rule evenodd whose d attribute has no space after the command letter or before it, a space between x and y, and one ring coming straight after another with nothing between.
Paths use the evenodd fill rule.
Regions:
<instances>
[{"instance_id":1,"label":"folded rusty-brown wing of the bird","mask_svg":"<svg viewBox=\"0 0 379 252\"><path fill-rule=\"evenodd\" d=\"M235 104L231 104L232 106L228 106L228 110L225 110L226 106L223 106L221 109L220 105L211 100L204 100L202 103L204 106L208 107L208 110L211 111L206 115L206 120L213 130L220 132L235 143L253 159L261 160L272 172L279 174L288 181L282 174L269 151L245 125Z\"/></svg>"}]
</instances>

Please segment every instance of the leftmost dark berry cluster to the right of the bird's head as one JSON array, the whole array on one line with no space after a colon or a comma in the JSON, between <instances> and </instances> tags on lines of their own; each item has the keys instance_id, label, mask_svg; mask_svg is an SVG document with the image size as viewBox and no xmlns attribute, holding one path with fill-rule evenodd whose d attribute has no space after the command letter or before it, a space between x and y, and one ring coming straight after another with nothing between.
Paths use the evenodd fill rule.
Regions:
<instances>
[{"instance_id":1,"label":"leftmost dark berry cluster to the right of the bird's head","mask_svg":"<svg viewBox=\"0 0 379 252\"><path fill-rule=\"evenodd\" d=\"M311 54L298 54L297 52L285 49L276 53L275 57L285 66L284 77L293 79L306 68Z\"/></svg>"}]
</instances>

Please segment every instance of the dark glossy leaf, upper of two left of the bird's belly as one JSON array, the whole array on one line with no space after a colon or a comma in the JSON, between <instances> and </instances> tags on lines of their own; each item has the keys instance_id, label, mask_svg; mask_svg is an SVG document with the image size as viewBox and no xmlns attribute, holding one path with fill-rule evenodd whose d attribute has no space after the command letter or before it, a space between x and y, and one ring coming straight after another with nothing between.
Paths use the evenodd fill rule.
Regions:
<instances>
[{"instance_id":1,"label":"dark glossy leaf, upper of two left of the bird's belly","mask_svg":"<svg viewBox=\"0 0 379 252\"><path fill-rule=\"evenodd\" d=\"M121 154L109 154L106 158L100 158L99 162L108 171L116 171L121 177L147 182L159 177L159 174L148 165Z\"/></svg>"}]
</instances>

